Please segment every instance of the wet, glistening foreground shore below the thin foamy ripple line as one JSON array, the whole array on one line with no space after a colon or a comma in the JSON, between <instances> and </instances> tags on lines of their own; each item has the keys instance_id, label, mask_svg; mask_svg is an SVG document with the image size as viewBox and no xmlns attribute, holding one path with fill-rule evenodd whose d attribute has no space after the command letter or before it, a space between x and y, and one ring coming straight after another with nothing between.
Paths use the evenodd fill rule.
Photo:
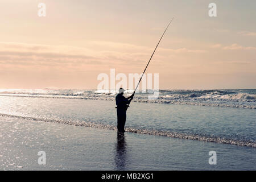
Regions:
<instances>
[{"instance_id":1,"label":"wet, glistening foreground shore below the thin foamy ripple line","mask_svg":"<svg viewBox=\"0 0 256 182\"><path fill-rule=\"evenodd\" d=\"M0 117L1 170L255 170L255 148ZM46 164L38 164L38 152ZM217 164L210 165L209 151Z\"/></svg>"}]
</instances>

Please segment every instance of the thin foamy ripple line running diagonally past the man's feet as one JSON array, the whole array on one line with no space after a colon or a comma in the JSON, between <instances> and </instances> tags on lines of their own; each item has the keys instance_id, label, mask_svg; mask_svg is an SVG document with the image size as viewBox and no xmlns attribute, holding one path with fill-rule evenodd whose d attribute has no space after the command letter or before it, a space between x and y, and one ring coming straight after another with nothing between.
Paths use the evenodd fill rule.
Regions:
<instances>
[{"instance_id":1,"label":"thin foamy ripple line running diagonally past the man's feet","mask_svg":"<svg viewBox=\"0 0 256 182\"><path fill-rule=\"evenodd\" d=\"M0 114L0 117L28 119L30 121L54 122L54 123L63 123L66 125L96 127L96 128L100 128L100 129L117 130L117 128L115 126L106 125L106 124L97 123L97 122L90 122L90 121L74 121L71 119L35 118L35 117L25 117L25 116L10 115L10 114ZM233 144L233 145L237 145L237 146L256 147L256 142L252 142L250 140L234 140L234 139L227 139L227 138L221 138L221 137L208 137L208 136L200 136L200 135L185 134L185 133L175 133L175 132L171 132L171 131L135 129L133 127L126 127L126 132L137 133L137 134L156 135L156 136L162 136L162 137L172 137L172 138L179 138L179 139L191 139L191 140L198 140L198 141L203 141L203 142Z\"/></svg>"}]
</instances>

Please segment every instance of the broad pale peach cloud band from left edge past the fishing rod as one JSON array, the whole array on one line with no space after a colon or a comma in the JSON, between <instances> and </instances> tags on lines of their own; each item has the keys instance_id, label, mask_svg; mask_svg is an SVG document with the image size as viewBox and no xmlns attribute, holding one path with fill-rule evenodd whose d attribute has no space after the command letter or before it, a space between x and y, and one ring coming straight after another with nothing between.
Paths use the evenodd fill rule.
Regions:
<instances>
[{"instance_id":1,"label":"broad pale peach cloud band from left edge past the fishing rod","mask_svg":"<svg viewBox=\"0 0 256 182\"><path fill-rule=\"evenodd\" d=\"M90 42L113 51L95 51L83 47L50 46L44 44L27 44L0 42L0 64L10 65L44 65L46 67L77 67L79 65L141 65L150 57L152 47L137 46L127 43ZM158 48L155 59L159 62L168 60L171 56L190 56L205 53L201 49L188 48Z\"/></svg>"}]
</instances>

